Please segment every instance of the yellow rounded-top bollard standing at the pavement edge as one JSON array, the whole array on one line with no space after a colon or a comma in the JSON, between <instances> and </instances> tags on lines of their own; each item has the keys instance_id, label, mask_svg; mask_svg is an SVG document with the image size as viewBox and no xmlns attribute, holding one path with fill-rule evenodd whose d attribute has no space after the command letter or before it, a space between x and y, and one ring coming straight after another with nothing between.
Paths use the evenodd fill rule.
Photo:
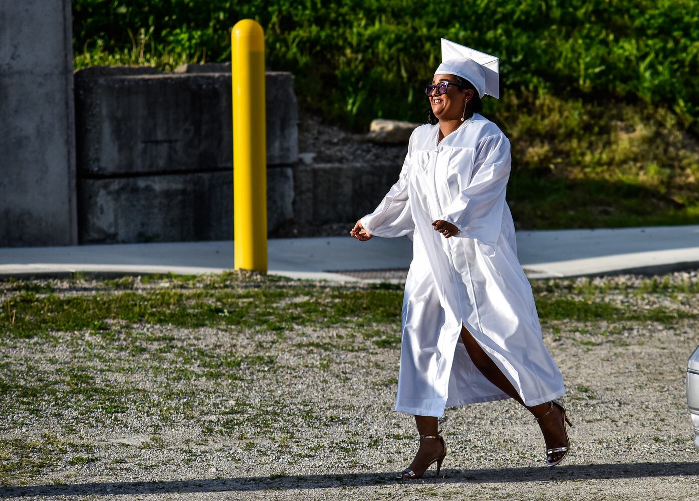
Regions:
<instances>
[{"instance_id":1,"label":"yellow rounded-top bollard standing at the pavement edge","mask_svg":"<svg viewBox=\"0 0 699 501\"><path fill-rule=\"evenodd\" d=\"M235 268L267 273L267 150L264 31L238 21L231 31Z\"/></svg>"}]
</instances>

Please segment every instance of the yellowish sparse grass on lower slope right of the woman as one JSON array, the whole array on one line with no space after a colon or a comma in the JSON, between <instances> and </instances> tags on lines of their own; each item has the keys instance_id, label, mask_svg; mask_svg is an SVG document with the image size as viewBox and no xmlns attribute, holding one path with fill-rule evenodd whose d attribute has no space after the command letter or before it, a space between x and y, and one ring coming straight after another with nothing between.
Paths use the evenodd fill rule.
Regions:
<instances>
[{"instance_id":1,"label":"yellowish sparse grass on lower slope right of the woman","mask_svg":"<svg viewBox=\"0 0 699 501\"><path fill-rule=\"evenodd\" d=\"M520 227L699 223L699 147L677 115L526 92L502 101Z\"/></svg>"}]
</instances>

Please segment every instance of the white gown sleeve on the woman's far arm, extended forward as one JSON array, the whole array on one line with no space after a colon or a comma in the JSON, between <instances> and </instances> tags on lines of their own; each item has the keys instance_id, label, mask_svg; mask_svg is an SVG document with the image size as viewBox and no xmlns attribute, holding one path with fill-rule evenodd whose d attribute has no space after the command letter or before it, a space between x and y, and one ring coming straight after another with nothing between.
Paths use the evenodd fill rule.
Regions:
<instances>
[{"instance_id":1,"label":"white gown sleeve on the woman's far arm, extended forward","mask_svg":"<svg viewBox=\"0 0 699 501\"><path fill-rule=\"evenodd\" d=\"M384 238L408 235L412 240L415 223L412 221L410 201L408 201L408 175L413 136L410 136L408 154L405 155L398 181L389 189L374 212L360 219L362 226L370 235Z\"/></svg>"}]
</instances>

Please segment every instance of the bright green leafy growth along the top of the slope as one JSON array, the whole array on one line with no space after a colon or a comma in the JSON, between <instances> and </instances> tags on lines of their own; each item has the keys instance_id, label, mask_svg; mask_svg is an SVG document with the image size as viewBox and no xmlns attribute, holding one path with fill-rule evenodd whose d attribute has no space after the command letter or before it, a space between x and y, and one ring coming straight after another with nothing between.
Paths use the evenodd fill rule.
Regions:
<instances>
[{"instance_id":1,"label":"bright green leafy growth along the top of the slope","mask_svg":"<svg viewBox=\"0 0 699 501\"><path fill-rule=\"evenodd\" d=\"M699 130L696 0L73 0L75 64L228 61L243 18L306 107L355 129L423 118L443 36L498 55L503 94L640 100Z\"/></svg>"}]
</instances>

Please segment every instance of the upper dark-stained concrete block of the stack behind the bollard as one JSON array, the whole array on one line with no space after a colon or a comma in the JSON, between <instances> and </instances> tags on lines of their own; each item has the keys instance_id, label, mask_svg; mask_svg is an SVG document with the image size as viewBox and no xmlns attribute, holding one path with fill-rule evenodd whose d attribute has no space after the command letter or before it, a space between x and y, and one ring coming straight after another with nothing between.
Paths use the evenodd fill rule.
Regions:
<instances>
[{"instance_id":1,"label":"upper dark-stained concrete block of the stack behind the bollard","mask_svg":"<svg viewBox=\"0 0 699 501\"><path fill-rule=\"evenodd\" d=\"M78 175L230 169L230 74L134 72L75 74ZM298 131L290 73L266 74L266 108L267 164L294 164Z\"/></svg>"}]
</instances>

